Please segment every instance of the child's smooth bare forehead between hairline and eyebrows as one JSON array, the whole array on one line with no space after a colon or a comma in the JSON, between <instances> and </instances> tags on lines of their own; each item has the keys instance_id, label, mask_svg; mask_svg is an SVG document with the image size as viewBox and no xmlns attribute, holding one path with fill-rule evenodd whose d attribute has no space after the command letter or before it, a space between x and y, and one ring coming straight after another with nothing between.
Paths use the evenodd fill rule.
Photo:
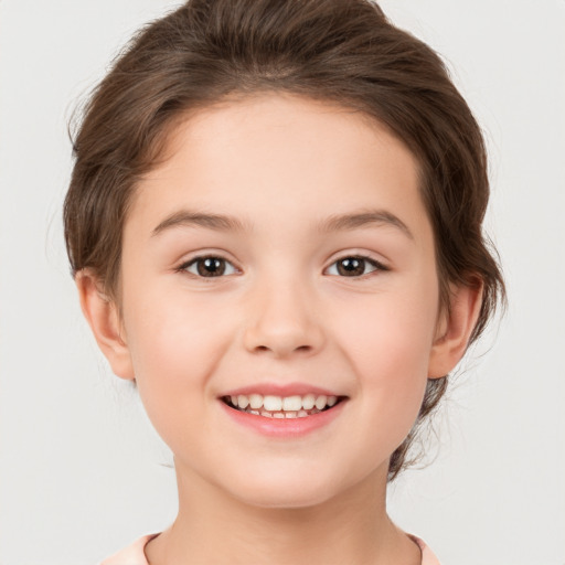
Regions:
<instances>
[{"instance_id":1,"label":"child's smooth bare forehead between hairline and eyebrows","mask_svg":"<svg viewBox=\"0 0 565 565\"><path fill-rule=\"evenodd\" d=\"M236 215L249 231L298 232L308 222L382 209L416 225L426 216L418 164L364 114L332 103L269 94L188 114L166 159L139 183L128 223L146 232L178 210Z\"/></svg>"}]
</instances>

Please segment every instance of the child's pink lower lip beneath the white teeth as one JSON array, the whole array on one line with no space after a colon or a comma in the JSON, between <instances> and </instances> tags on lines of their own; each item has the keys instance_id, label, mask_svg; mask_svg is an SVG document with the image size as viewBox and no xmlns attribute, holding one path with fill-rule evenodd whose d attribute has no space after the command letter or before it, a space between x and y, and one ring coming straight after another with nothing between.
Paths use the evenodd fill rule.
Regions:
<instances>
[{"instance_id":1,"label":"child's pink lower lip beneath the white teeth","mask_svg":"<svg viewBox=\"0 0 565 565\"><path fill-rule=\"evenodd\" d=\"M341 401L328 411L305 416L303 418L269 418L268 416L257 416L243 411L231 408L223 401L218 401L226 414L234 422L242 426L253 429L264 436L294 438L301 437L333 422L342 412L345 401Z\"/></svg>"}]
</instances>

